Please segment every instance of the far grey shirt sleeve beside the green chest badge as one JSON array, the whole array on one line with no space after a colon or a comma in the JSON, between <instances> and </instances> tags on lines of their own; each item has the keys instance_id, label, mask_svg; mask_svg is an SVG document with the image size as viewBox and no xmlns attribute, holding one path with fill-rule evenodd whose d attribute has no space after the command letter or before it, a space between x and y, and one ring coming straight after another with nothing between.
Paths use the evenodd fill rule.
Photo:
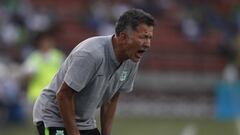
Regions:
<instances>
[{"instance_id":1,"label":"far grey shirt sleeve beside the green chest badge","mask_svg":"<svg viewBox=\"0 0 240 135\"><path fill-rule=\"evenodd\" d=\"M137 76L139 63L135 64L135 67L133 67L131 73L128 76L128 80L123 84L123 86L120 87L120 92L126 92L129 93L133 90L134 81Z\"/></svg>"}]
</instances>

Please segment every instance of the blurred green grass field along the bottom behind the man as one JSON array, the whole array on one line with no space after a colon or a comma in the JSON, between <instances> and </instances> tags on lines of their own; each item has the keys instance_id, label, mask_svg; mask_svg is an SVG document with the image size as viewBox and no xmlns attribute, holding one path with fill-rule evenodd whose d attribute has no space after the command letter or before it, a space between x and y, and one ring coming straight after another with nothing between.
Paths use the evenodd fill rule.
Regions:
<instances>
[{"instance_id":1,"label":"blurred green grass field along the bottom behind the man","mask_svg":"<svg viewBox=\"0 0 240 135\"><path fill-rule=\"evenodd\" d=\"M239 135L234 121L209 119L116 118L113 135ZM8 124L0 135L35 135L31 122Z\"/></svg>"}]
</instances>

